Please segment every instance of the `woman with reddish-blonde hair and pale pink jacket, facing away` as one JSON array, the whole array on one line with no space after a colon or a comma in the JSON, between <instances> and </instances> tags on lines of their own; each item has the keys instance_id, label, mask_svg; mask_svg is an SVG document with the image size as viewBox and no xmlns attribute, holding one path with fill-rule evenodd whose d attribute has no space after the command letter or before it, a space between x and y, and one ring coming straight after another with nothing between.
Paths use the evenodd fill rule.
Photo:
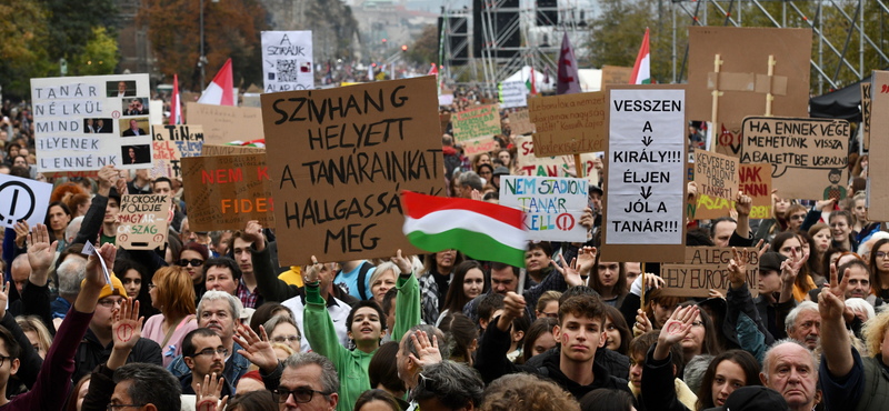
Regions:
<instances>
[{"instance_id":1,"label":"woman with reddish-blonde hair and pale pink jacket, facing away","mask_svg":"<svg viewBox=\"0 0 889 411\"><path fill-rule=\"evenodd\" d=\"M182 353L182 339L198 328L191 275L181 267L163 267L148 284L151 305L160 310L142 327L142 338L161 347L163 367Z\"/></svg>"}]
</instances>

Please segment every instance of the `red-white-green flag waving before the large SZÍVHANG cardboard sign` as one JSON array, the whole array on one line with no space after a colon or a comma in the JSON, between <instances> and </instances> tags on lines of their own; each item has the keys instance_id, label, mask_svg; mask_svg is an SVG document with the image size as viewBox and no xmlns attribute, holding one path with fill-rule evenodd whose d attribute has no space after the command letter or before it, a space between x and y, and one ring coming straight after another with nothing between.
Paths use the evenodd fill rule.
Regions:
<instances>
[{"instance_id":1,"label":"red-white-green flag waving before the large SZ\u00cdVHANG cardboard sign","mask_svg":"<svg viewBox=\"0 0 889 411\"><path fill-rule=\"evenodd\" d=\"M404 191L404 235L429 252L456 249L472 259L525 267L521 211L469 199Z\"/></svg>"}]
</instances>

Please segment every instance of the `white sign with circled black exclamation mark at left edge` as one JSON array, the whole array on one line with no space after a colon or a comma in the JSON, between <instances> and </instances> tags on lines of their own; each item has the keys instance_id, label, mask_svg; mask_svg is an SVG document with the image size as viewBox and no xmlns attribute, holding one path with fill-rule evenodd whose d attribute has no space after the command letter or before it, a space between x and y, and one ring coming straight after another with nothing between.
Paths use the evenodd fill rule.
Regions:
<instances>
[{"instance_id":1,"label":"white sign with circled black exclamation mark at left edge","mask_svg":"<svg viewBox=\"0 0 889 411\"><path fill-rule=\"evenodd\" d=\"M21 220L42 224L51 194L50 183L0 174L0 225L11 229Z\"/></svg>"}]
</instances>

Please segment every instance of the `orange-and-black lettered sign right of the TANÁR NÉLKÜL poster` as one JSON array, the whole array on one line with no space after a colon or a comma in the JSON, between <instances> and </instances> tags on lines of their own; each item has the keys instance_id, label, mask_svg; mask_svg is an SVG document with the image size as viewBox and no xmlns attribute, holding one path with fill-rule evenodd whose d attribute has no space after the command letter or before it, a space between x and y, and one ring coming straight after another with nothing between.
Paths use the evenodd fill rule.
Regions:
<instances>
[{"instance_id":1,"label":"orange-and-black lettered sign right of the TAN\u00c1R N\u00c9LK\u00dcL poster","mask_svg":"<svg viewBox=\"0 0 889 411\"><path fill-rule=\"evenodd\" d=\"M154 167L149 172L150 177L182 178L181 159L201 156L203 128L197 124L154 124L151 130Z\"/></svg>"}]
</instances>

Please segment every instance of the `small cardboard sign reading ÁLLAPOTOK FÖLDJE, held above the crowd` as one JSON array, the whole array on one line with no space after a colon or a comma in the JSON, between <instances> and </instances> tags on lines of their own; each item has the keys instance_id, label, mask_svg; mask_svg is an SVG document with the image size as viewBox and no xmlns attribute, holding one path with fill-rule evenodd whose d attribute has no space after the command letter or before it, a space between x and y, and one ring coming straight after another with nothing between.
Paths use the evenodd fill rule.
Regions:
<instances>
[{"instance_id":1,"label":"small cardboard sign reading \u00c1LLAPOTOK F\u00d6LDJE, held above the crowd","mask_svg":"<svg viewBox=\"0 0 889 411\"><path fill-rule=\"evenodd\" d=\"M153 250L167 243L170 197L124 194L120 200L117 245L127 250Z\"/></svg>"}]
</instances>

